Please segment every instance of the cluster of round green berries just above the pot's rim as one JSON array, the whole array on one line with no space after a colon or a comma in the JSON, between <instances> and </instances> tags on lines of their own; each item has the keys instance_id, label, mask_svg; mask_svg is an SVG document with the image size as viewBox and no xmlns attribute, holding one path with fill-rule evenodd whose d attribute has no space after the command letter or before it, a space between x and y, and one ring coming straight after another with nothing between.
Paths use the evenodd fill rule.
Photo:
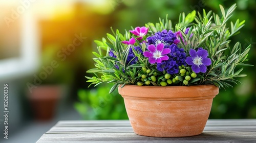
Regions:
<instances>
[{"instance_id":1,"label":"cluster of round green berries just above the pot's rim","mask_svg":"<svg viewBox=\"0 0 256 143\"><path fill-rule=\"evenodd\" d=\"M168 73L158 73L156 70L147 69L142 67L139 71L139 81L137 85L155 85L155 86L167 86L170 84L188 85L189 81L196 78L197 74L191 70L191 67L184 65L179 66L179 73L170 75Z\"/></svg>"}]
</instances>

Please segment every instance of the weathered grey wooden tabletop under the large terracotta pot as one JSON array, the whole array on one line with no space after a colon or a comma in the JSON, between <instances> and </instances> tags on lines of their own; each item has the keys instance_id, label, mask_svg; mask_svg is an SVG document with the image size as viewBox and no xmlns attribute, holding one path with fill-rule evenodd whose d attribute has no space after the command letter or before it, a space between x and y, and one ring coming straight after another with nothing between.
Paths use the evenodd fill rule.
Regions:
<instances>
[{"instance_id":1,"label":"weathered grey wooden tabletop under the large terracotta pot","mask_svg":"<svg viewBox=\"0 0 256 143\"><path fill-rule=\"evenodd\" d=\"M59 121L41 142L256 142L256 119L208 120L203 133L191 137L140 136L128 120Z\"/></svg>"}]
</instances>

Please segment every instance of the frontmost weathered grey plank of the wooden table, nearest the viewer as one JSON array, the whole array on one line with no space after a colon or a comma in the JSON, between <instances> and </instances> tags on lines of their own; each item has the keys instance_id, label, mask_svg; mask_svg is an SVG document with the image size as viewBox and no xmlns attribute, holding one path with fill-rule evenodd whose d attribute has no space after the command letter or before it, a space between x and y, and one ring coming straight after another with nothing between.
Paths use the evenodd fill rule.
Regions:
<instances>
[{"instance_id":1,"label":"frontmost weathered grey plank of the wooden table, nearest the viewer","mask_svg":"<svg viewBox=\"0 0 256 143\"><path fill-rule=\"evenodd\" d=\"M147 137L135 133L44 134L37 143L50 142L255 142L255 132L209 132L191 137Z\"/></svg>"}]
</instances>

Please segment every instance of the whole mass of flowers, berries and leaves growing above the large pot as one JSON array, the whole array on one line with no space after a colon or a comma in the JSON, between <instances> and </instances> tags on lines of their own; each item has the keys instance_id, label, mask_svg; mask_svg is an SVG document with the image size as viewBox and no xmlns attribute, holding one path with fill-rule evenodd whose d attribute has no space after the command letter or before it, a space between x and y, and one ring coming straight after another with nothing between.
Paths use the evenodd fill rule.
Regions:
<instances>
[{"instance_id":1,"label":"whole mass of flowers, berries and leaves growing above the large pot","mask_svg":"<svg viewBox=\"0 0 256 143\"><path fill-rule=\"evenodd\" d=\"M114 83L110 92L121 85L181 86L213 84L232 87L247 65L250 45L242 50L241 44L229 45L229 38L239 33L245 21L227 21L236 9L227 12L220 5L222 16L192 11L180 14L179 22L160 19L144 27L132 28L121 34L111 28L113 35L96 40L98 52L93 52L96 62L86 77L97 86L103 82ZM238 67L239 66L239 67Z\"/></svg>"}]
</instances>

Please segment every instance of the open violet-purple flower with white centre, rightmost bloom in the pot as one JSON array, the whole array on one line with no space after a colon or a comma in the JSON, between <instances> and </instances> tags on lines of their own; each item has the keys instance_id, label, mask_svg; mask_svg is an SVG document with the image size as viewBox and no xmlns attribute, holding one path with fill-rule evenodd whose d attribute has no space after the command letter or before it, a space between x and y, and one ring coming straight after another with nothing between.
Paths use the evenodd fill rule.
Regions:
<instances>
[{"instance_id":1,"label":"open violet-purple flower with white centre, rightmost bloom in the pot","mask_svg":"<svg viewBox=\"0 0 256 143\"><path fill-rule=\"evenodd\" d=\"M186 58L186 63L192 65L191 68L195 73L205 73L206 66L211 64L210 58L207 58L208 52L199 48L198 51L190 49L189 54L191 57Z\"/></svg>"}]
</instances>

